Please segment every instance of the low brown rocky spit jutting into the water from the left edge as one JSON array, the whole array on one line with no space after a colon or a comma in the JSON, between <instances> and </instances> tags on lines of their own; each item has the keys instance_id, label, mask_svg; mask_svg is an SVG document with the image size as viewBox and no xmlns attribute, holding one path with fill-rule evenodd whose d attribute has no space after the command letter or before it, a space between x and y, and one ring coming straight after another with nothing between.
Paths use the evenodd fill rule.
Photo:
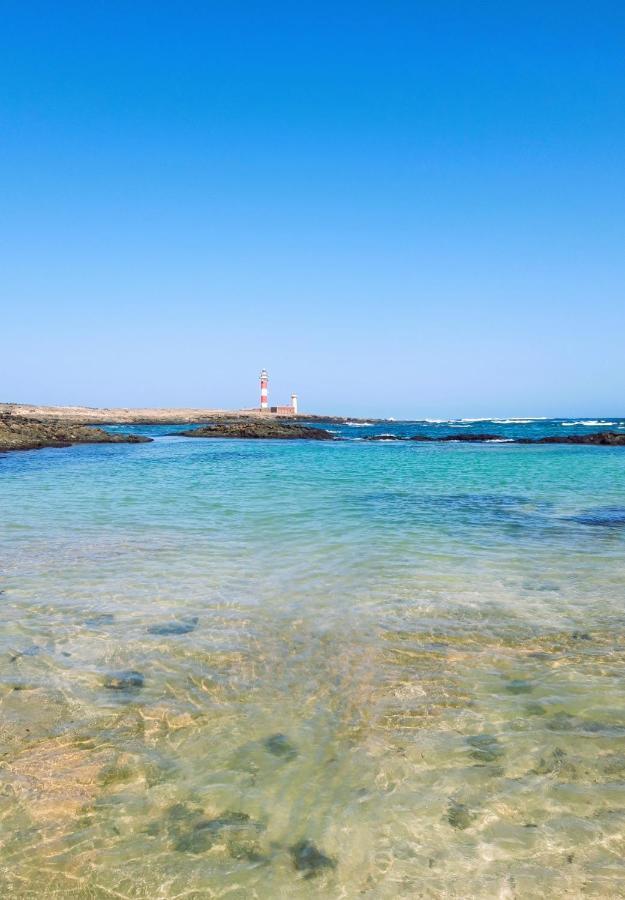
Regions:
<instances>
[{"instance_id":1,"label":"low brown rocky spit jutting into the water from the left edge","mask_svg":"<svg viewBox=\"0 0 625 900\"><path fill-rule=\"evenodd\" d=\"M0 453L41 450L72 444L144 444L152 438L138 434L111 434L102 428L73 422L40 422L20 416L0 416Z\"/></svg>"}]
</instances>

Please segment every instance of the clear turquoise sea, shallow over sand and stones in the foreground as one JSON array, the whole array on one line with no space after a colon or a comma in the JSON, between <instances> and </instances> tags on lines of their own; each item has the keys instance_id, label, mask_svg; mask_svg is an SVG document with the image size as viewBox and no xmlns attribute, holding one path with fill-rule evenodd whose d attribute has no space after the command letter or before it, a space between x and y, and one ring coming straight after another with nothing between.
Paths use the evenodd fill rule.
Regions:
<instances>
[{"instance_id":1,"label":"clear turquoise sea, shallow over sand and stones in the foreground","mask_svg":"<svg viewBox=\"0 0 625 900\"><path fill-rule=\"evenodd\" d=\"M141 430L0 457L0 896L625 896L625 450Z\"/></svg>"}]
</instances>

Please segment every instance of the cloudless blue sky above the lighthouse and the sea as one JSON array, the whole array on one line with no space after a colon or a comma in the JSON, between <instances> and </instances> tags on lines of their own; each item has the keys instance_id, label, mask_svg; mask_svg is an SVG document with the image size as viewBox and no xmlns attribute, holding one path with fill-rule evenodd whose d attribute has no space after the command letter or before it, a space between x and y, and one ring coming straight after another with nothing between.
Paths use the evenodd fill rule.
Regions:
<instances>
[{"instance_id":1,"label":"cloudless blue sky above the lighthouse and the sea","mask_svg":"<svg viewBox=\"0 0 625 900\"><path fill-rule=\"evenodd\" d=\"M0 399L625 414L621 2L7 0Z\"/></svg>"}]
</instances>

